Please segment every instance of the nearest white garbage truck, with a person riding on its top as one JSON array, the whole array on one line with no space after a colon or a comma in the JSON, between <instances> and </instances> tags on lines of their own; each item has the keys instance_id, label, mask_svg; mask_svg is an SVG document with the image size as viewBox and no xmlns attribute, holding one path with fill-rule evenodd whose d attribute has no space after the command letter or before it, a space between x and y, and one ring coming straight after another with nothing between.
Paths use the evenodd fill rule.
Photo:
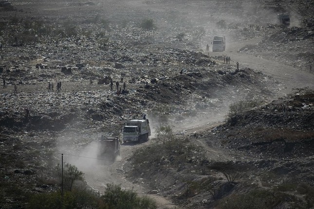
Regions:
<instances>
[{"instance_id":1,"label":"nearest white garbage truck, with a person riding on its top","mask_svg":"<svg viewBox=\"0 0 314 209\"><path fill-rule=\"evenodd\" d=\"M123 142L148 140L150 127L148 119L126 121L123 127Z\"/></svg>"}]
</instances>

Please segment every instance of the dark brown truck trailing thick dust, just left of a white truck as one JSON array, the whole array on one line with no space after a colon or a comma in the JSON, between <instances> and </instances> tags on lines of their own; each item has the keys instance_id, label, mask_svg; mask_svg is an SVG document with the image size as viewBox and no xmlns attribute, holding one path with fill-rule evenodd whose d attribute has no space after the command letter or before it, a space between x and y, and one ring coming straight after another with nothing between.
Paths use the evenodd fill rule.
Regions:
<instances>
[{"instance_id":1,"label":"dark brown truck trailing thick dust, just left of a white truck","mask_svg":"<svg viewBox=\"0 0 314 209\"><path fill-rule=\"evenodd\" d=\"M98 157L114 160L120 156L120 143L118 137L104 137L98 139Z\"/></svg>"}]
</instances>

